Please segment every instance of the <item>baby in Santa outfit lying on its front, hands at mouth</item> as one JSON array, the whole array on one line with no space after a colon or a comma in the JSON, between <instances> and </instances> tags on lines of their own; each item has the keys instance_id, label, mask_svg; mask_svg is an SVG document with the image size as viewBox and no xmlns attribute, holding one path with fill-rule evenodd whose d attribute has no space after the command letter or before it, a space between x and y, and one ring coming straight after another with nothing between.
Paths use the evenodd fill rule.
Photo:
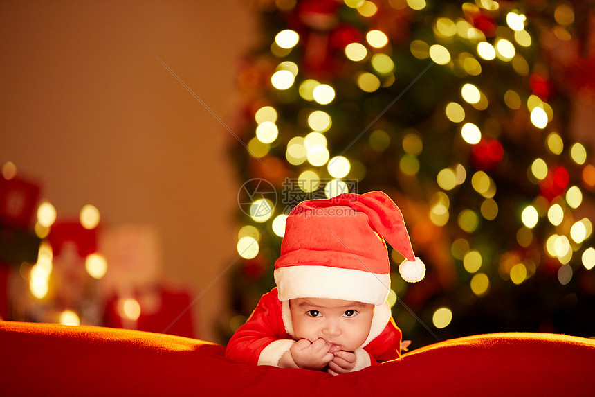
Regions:
<instances>
[{"instance_id":1,"label":"baby in Santa outfit lying on its front, hands at mouth","mask_svg":"<svg viewBox=\"0 0 595 397\"><path fill-rule=\"evenodd\" d=\"M425 266L413 254L403 215L380 191L298 204L286 220L275 283L226 356L239 362L338 375L401 355L401 330L386 299L390 263L383 240L405 256L399 271Z\"/></svg>"}]
</instances>

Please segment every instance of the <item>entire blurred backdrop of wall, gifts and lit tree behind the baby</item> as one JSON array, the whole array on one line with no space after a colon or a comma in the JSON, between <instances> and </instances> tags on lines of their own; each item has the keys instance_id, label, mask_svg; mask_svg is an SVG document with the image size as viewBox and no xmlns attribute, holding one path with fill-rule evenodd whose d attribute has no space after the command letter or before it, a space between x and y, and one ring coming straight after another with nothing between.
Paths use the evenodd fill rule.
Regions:
<instances>
[{"instance_id":1,"label":"entire blurred backdrop of wall, gifts and lit tree behind the baby","mask_svg":"<svg viewBox=\"0 0 595 397\"><path fill-rule=\"evenodd\" d=\"M412 348L595 336L590 2L3 3L0 317L225 343L301 200L380 189Z\"/></svg>"}]
</instances>

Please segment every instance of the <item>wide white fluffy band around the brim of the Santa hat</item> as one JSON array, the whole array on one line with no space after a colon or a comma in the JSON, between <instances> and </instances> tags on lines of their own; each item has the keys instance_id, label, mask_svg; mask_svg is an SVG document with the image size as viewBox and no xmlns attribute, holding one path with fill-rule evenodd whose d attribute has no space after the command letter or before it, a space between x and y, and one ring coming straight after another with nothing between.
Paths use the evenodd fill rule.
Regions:
<instances>
[{"instance_id":1,"label":"wide white fluffy band around the brim of the Santa hat","mask_svg":"<svg viewBox=\"0 0 595 397\"><path fill-rule=\"evenodd\" d=\"M330 298L382 305L390 289L389 274L319 265L275 269L279 300Z\"/></svg>"}]
</instances>

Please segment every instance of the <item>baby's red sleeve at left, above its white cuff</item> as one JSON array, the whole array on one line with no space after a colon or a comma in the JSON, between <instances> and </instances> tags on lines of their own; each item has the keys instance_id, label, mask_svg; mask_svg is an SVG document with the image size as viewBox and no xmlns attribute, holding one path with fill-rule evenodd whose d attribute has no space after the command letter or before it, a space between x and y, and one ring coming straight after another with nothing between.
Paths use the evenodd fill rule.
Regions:
<instances>
[{"instance_id":1,"label":"baby's red sleeve at left, above its white cuff","mask_svg":"<svg viewBox=\"0 0 595 397\"><path fill-rule=\"evenodd\" d=\"M262 350L278 339L291 339L281 316L277 289L264 294L246 324L239 327L226 348L226 357L237 362L258 364Z\"/></svg>"}]
</instances>

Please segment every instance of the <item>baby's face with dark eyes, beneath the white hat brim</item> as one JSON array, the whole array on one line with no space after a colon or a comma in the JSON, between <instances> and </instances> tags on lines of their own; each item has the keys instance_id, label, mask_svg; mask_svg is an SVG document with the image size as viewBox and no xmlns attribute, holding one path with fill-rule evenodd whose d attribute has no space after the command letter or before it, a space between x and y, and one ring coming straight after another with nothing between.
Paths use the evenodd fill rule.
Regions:
<instances>
[{"instance_id":1,"label":"baby's face with dark eyes, beneath the white hat brim","mask_svg":"<svg viewBox=\"0 0 595 397\"><path fill-rule=\"evenodd\" d=\"M374 305L327 298L297 298L289 301L293 331L297 339L314 342L322 338L354 351L367 339Z\"/></svg>"}]
</instances>

